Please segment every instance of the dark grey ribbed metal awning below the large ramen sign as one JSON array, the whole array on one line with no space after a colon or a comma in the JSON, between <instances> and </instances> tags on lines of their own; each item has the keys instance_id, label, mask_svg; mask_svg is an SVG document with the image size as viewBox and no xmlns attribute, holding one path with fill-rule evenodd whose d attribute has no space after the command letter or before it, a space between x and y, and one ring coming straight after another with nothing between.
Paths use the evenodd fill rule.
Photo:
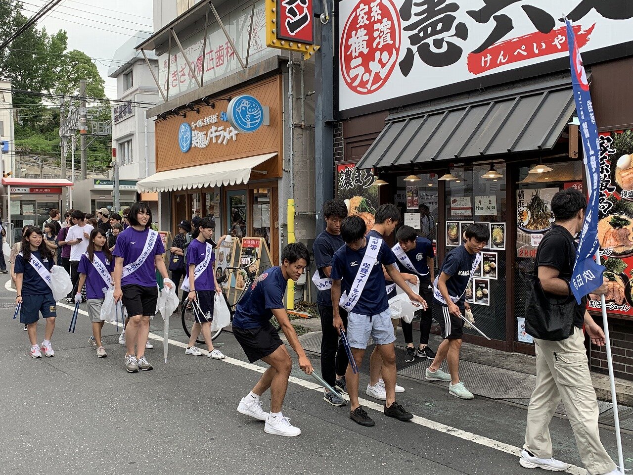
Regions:
<instances>
[{"instance_id":1,"label":"dark grey ribbed metal awning below the large ramen sign","mask_svg":"<svg viewBox=\"0 0 633 475\"><path fill-rule=\"evenodd\" d=\"M551 149L575 111L569 77L392 113L358 168Z\"/></svg>"}]
</instances>

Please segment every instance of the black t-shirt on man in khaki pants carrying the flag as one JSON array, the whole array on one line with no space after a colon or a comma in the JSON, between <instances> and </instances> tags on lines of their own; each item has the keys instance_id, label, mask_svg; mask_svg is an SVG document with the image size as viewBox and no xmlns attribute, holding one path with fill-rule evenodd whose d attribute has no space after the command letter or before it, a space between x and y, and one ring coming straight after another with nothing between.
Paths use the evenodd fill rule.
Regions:
<instances>
[{"instance_id":1,"label":"black t-shirt on man in khaki pants carrying the flag","mask_svg":"<svg viewBox=\"0 0 633 475\"><path fill-rule=\"evenodd\" d=\"M576 260L576 246L572 234L564 227L555 224L552 229L543 237L536 255L534 269L538 272L540 266L553 267L560 274L558 277L569 282L573 274L573 263ZM546 293L553 303L562 303L567 297L551 295ZM585 308L587 298L583 297L580 305L577 305L573 317L573 326L582 328L585 320Z\"/></svg>"}]
</instances>

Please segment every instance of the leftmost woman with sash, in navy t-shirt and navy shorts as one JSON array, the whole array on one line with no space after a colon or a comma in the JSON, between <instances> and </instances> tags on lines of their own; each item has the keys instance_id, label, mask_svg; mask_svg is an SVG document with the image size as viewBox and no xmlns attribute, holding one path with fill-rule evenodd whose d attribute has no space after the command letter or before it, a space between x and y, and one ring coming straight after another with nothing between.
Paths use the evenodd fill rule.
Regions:
<instances>
[{"instance_id":1,"label":"leftmost woman with sash, in navy t-shirt and navy shorts","mask_svg":"<svg viewBox=\"0 0 633 475\"><path fill-rule=\"evenodd\" d=\"M18 291L15 303L22 303L20 322L27 325L32 358L41 358L42 352L49 358L55 355L51 338L55 329L57 305L53 290L47 283L51 281L53 265L53 251L44 242L42 230L29 226L22 236L22 251L15 258L15 288ZM46 319L42 345L37 345L39 314Z\"/></svg>"}]
</instances>

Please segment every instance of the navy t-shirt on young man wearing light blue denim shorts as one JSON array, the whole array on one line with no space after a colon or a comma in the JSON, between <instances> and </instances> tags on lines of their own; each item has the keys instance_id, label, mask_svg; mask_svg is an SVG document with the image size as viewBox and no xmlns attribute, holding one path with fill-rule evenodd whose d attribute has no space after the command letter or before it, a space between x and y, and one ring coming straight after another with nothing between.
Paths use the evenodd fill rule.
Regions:
<instances>
[{"instance_id":1,"label":"navy t-shirt on young man wearing light blue denim shorts","mask_svg":"<svg viewBox=\"0 0 633 475\"><path fill-rule=\"evenodd\" d=\"M378 232L372 232L367 235L367 244L369 244L369 238L377 238L380 236ZM382 239L382 237L380 239ZM358 251L353 251L346 245L334 253L330 277L335 281L342 281L341 292L347 292L349 294L351 291L359 266L361 262L363 262L363 257L365 257L365 251L367 251L367 249L368 246L366 245ZM351 312L360 315L378 315L389 308L382 265L392 265L395 262L396 256L383 239L375 265L373 265L372 271L367 277L363 293L361 293L360 298Z\"/></svg>"}]
</instances>

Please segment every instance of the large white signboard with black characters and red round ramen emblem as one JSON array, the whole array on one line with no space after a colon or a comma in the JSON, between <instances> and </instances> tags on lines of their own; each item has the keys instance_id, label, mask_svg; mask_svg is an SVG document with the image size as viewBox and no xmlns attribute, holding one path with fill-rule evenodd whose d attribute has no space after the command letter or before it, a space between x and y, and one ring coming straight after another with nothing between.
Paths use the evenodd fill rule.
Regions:
<instances>
[{"instance_id":1,"label":"large white signboard with black characters and red round ramen emblem","mask_svg":"<svg viewBox=\"0 0 633 475\"><path fill-rule=\"evenodd\" d=\"M627 56L633 46L630 3L341 0L342 117L358 108L384 110L568 70L563 16L572 22L586 64Z\"/></svg>"}]
</instances>

